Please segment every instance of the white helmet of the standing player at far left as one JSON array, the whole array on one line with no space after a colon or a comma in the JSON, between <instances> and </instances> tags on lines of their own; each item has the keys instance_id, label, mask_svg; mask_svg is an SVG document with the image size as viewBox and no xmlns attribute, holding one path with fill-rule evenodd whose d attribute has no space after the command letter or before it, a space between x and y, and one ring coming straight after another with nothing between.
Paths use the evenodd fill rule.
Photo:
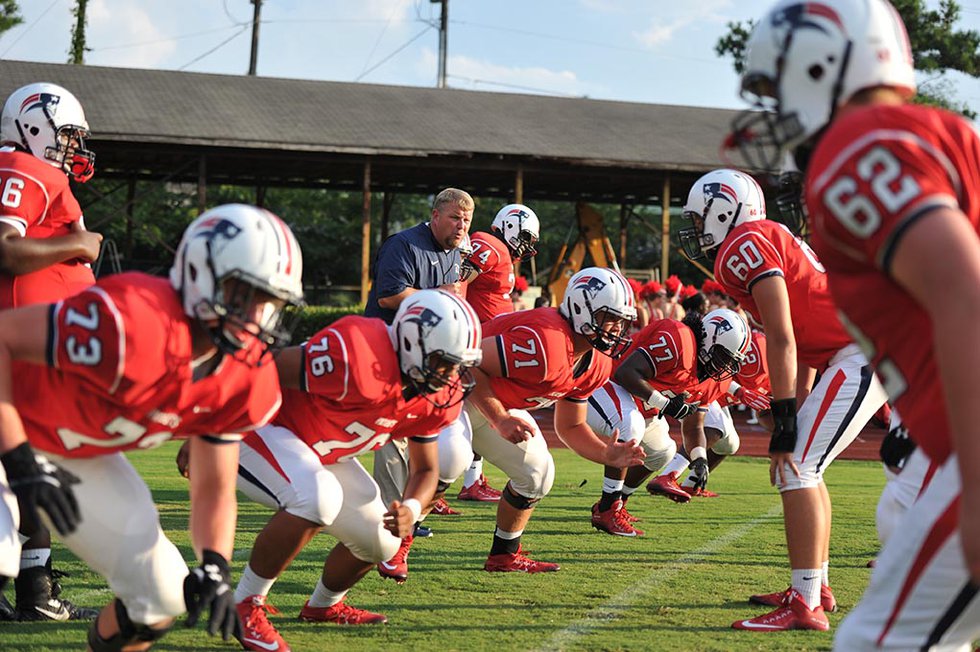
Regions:
<instances>
[{"instance_id":1,"label":"white helmet of the standing player at far left","mask_svg":"<svg viewBox=\"0 0 980 652\"><path fill-rule=\"evenodd\" d=\"M18 88L0 114L0 141L30 152L82 183L95 173L95 154L85 149L88 137L82 105L55 84Z\"/></svg>"}]
</instances>

